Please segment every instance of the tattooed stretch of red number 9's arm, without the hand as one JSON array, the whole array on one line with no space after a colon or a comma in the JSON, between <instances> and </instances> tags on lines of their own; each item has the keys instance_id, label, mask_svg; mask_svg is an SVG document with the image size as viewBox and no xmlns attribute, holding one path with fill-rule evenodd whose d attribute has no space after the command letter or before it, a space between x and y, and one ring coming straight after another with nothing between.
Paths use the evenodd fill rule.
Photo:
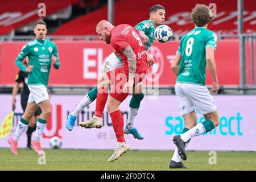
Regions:
<instances>
[{"instance_id":1,"label":"tattooed stretch of red number 9's arm, without the hand","mask_svg":"<svg viewBox=\"0 0 256 182\"><path fill-rule=\"evenodd\" d=\"M136 55L133 52L131 46L127 46L123 49L123 55L127 57L128 67L129 67L129 80L135 77L136 68L137 68L137 61Z\"/></svg>"}]
</instances>

